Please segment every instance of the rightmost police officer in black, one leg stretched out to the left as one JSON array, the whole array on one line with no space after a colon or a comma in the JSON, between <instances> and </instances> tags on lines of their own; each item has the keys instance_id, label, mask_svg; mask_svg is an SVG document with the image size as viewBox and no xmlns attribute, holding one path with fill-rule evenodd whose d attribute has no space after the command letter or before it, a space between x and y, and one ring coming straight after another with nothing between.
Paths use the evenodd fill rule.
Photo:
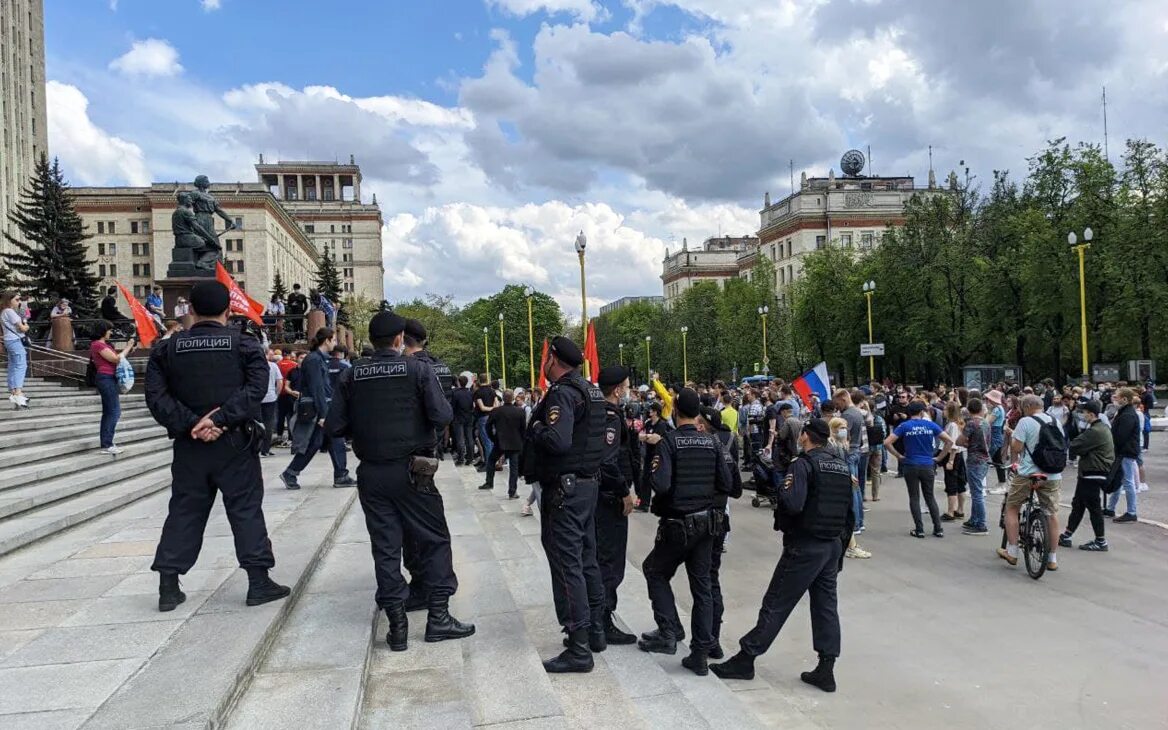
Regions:
<instances>
[{"instance_id":1,"label":"rightmost police officer in black, one leg stretched out to the left","mask_svg":"<svg viewBox=\"0 0 1168 730\"><path fill-rule=\"evenodd\" d=\"M791 611L811 595L811 628L819 666L804 672L802 681L835 691L835 658L840 655L840 614L836 576L843 549L851 540L851 474L848 463L823 449L830 430L813 418L799 436L802 454L791 464L779 489L774 529L783 530L783 556L763 596L758 623L739 641L741 651L710 669L722 679L755 677L755 658L771 647Z\"/></svg>"}]
</instances>

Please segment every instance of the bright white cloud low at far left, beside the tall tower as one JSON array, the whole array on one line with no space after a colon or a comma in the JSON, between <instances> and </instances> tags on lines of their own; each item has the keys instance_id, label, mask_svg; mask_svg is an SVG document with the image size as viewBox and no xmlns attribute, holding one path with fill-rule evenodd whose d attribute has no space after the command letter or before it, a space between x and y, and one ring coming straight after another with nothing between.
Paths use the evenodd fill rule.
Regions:
<instances>
[{"instance_id":1,"label":"bright white cloud low at far left, beside the tall tower","mask_svg":"<svg viewBox=\"0 0 1168 730\"><path fill-rule=\"evenodd\" d=\"M79 89L55 81L44 86L49 147L74 185L150 185L141 148L95 125Z\"/></svg>"}]
</instances>

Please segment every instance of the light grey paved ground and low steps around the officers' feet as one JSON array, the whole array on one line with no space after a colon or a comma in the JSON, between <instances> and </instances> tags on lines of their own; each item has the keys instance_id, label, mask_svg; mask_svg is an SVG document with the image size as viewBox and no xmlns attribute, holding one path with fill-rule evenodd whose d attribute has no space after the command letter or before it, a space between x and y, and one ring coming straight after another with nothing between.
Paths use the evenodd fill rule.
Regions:
<instances>
[{"instance_id":1,"label":"light grey paved ground and low steps around the officers' feet","mask_svg":"<svg viewBox=\"0 0 1168 730\"><path fill-rule=\"evenodd\" d=\"M1141 515L1162 519L1168 442L1153 442ZM869 561L841 577L840 691L802 684L813 666L806 603L758 679L695 677L677 656L612 647L589 675L547 675L557 651L538 520L522 500L475 489L481 475L439 471L454 534L452 611L467 640L427 645L410 614L405 653L384 645L373 605L368 535L352 489L325 487L327 459L278 487L265 507L286 602L243 605L230 533L216 507L186 604L155 609L148 566L166 492L0 558L0 726L12 728L1029 728L1168 726L1168 530L1108 526L1106 555L1061 552L1029 579L996 536L913 540L905 493L888 479L867 515ZM749 498L749 493L748 493ZM996 499L996 498L995 498ZM992 510L996 509L996 505ZM639 563L654 520L632 517L619 619L652 628ZM771 514L734 503L723 561L723 645L753 623L779 554ZM1079 537L1087 535L1080 528ZM689 598L675 580L682 611Z\"/></svg>"}]
</instances>

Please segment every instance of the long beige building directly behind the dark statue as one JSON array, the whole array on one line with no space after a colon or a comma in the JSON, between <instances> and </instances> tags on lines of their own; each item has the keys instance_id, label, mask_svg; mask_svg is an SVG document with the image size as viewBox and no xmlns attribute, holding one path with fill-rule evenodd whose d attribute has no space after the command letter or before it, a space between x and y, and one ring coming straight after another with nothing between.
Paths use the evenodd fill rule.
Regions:
<instances>
[{"instance_id":1,"label":"long beige building directly behind the dark statue","mask_svg":"<svg viewBox=\"0 0 1168 730\"><path fill-rule=\"evenodd\" d=\"M102 286L120 281L137 297L166 278L174 248L171 216L175 194L192 185L155 182L148 188L71 188L77 214L92 238L89 257ZM258 183L217 183L210 193L231 217L235 229L222 232L223 265L253 299L267 301L279 272L290 290L307 290L317 273L319 253L300 223ZM225 224L216 217L216 232Z\"/></svg>"}]
</instances>

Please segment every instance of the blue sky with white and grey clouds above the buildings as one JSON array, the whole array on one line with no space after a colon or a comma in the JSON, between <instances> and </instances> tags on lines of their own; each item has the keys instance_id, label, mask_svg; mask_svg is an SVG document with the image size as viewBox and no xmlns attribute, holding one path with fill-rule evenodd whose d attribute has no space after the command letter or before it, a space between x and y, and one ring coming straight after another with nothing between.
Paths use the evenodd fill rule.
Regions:
<instances>
[{"instance_id":1,"label":"blue sky with white and grey clouds above the buildings","mask_svg":"<svg viewBox=\"0 0 1168 730\"><path fill-rule=\"evenodd\" d=\"M683 237L871 146L923 183L1044 140L1160 144L1163 0L46 0L49 142L75 185L255 180L356 157L390 299L530 283L659 294ZM335 8L335 9L329 9Z\"/></svg>"}]
</instances>

